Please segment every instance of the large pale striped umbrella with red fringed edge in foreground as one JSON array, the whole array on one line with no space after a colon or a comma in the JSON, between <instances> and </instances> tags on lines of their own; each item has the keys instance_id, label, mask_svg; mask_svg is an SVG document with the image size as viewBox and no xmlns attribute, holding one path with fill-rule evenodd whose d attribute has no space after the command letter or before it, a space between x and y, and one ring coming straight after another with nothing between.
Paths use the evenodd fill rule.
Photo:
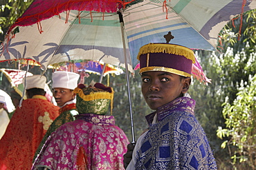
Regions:
<instances>
[{"instance_id":1,"label":"large pale striped umbrella with red fringed edge in foreground","mask_svg":"<svg viewBox=\"0 0 256 170\"><path fill-rule=\"evenodd\" d=\"M46 68L62 61L90 59L132 72L140 46L170 42L215 50L223 26L235 15L256 8L256 1L243 0L131 3L35 0L10 28L1 45L0 60L33 59ZM127 83L129 89L129 76Z\"/></svg>"}]
</instances>

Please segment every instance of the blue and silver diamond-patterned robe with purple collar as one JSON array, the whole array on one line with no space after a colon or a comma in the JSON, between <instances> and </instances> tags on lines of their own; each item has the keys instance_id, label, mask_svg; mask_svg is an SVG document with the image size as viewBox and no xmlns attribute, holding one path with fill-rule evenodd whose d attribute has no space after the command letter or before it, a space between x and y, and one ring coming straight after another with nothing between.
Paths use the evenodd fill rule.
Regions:
<instances>
[{"instance_id":1,"label":"blue and silver diamond-patterned robe with purple collar","mask_svg":"<svg viewBox=\"0 0 256 170\"><path fill-rule=\"evenodd\" d=\"M177 98L147 116L149 131L136 153L135 169L217 169L195 101ZM158 122L151 124L157 114Z\"/></svg>"}]
</instances>

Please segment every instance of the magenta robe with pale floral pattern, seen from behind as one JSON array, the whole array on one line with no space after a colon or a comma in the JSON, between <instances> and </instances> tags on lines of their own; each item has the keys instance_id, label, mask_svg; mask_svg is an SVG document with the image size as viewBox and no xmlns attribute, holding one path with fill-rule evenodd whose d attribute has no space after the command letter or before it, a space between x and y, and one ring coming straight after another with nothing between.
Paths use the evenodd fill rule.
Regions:
<instances>
[{"instance_id":1,"label":"magenta robe with pale floral pattern, seen from behind","mask_svg":"<svg viewBox=\"0 0 256 170\"><path fill-rule=\"evenodd\" d=\"M48 138L33 169L124 169L129 143L113 116L80 114ZM86 164L86 167L81 167Z\"/></svg>"}]
</instances>

